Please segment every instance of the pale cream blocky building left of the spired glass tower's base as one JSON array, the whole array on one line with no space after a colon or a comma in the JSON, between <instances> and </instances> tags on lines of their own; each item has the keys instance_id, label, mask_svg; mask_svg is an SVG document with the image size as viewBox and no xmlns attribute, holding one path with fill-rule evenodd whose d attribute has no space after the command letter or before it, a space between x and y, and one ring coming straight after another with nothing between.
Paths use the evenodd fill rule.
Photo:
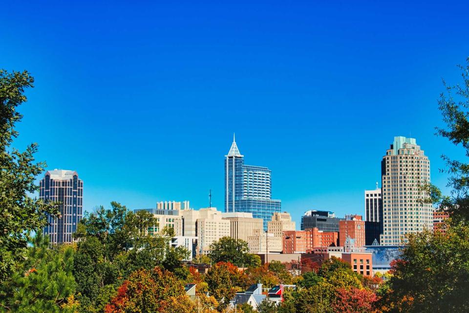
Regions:
<instances>
[{"instance_id":1,"label":"pale cream blocky building left of the spired glass tower's base","mask_svg":"<svg viewBox=\"0 0 469 313\"><path fill-rule=\"evenodd\" d=\"M180 210L183 236L197 237L197 254L210 253L210 245L222 237L230 237L230 221L214 207Z\"/></svg>"}]
</instances>

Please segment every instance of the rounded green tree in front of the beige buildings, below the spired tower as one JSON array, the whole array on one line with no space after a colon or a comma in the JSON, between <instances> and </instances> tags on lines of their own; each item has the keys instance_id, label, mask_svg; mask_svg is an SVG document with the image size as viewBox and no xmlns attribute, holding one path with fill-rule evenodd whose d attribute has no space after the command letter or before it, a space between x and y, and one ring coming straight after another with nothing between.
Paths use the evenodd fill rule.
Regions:
<instances>
[{"instance_id":1,"label":"rounded green tree in front of the beige buildings, below the spired tower","mask_svg":"<svg viewBox=\"0 0 469 313\"><path fill-rule=\"evenodd\" d=\"M240 239L222 237L210 245L210 258L213 262L230 262L237 267L256 267L260 258L249 253L248 244Z\"/></svg>"}]
</instances>

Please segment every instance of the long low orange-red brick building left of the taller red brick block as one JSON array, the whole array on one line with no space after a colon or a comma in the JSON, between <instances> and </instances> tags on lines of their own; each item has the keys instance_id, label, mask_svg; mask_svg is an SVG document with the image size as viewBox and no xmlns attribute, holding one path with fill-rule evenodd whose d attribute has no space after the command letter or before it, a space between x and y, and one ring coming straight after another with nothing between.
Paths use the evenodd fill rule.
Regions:
<instances>
[{"instance_id":1,"label":"long low orange-red brick building left of the taller red brick block","mask_svg":"<svg viewBox=\"0 0 469 313\"><path fill-rule=\"evenodd\" d=\"M318 228L283 232L283 253L305 253L317 246L338 246L338 232L323 232Z\"/></svg>"}]
</instances>

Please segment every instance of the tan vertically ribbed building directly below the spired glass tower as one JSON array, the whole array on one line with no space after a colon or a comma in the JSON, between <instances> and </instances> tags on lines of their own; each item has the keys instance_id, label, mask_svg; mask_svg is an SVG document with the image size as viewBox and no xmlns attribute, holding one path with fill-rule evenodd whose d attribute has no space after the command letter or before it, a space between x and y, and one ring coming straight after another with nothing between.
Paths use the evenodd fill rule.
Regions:
<instances>
[{"instance_id":1,"label":"tan vertically ribbed building directly below the spired glass tower","mask_svg":"<svg viewBox=\"0 0 469 313\"><path fill-rule=\"evenodd\" d=\"M254 219L252 213L222 213L224 220L230 221L230 236L233 239L248 241L256 229L262 229L262 219Z\"/></svg>"}]
</instances>

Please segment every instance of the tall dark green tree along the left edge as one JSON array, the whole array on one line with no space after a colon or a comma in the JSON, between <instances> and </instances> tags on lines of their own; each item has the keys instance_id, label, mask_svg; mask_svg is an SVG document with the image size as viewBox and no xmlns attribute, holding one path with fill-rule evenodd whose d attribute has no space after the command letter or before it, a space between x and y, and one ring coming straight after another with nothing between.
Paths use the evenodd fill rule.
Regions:
<instances>
[{"instance_id":1,"label":"tall dark green tree along the left edge","mask_svg":"<svg viewBox=\"0 0 469 313\"><path fill-rule=\"evenodd\" d=\"M24 89L33 83L27 71L0 69L0 284L27 253L29 234L42 231L47 214L59 214L55 203L29 196L38 190L34 180L45 167L34 159L38 145L29 145L24 152L11 147L18 136L15 124L22 118L18 107L26 102Z\"/></svg>"}]
</instances>

